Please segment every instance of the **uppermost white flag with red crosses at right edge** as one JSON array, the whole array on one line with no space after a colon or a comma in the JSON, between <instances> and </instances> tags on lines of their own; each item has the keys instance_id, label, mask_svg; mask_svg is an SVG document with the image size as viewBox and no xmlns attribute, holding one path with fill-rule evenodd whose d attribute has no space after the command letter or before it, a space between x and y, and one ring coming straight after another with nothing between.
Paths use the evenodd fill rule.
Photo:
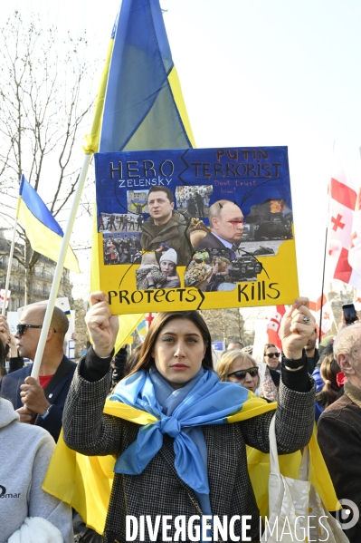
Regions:
<instances>
[{"instance_id":1,"label":"uppermost white flag with red crosses at right edge","mask_svg":"<svg viewBox=\"0 0 361 543\"><path fill-rule=\"evenodd\" d=\"M348 259L348 252L352 247L356 201L356 190L352 181L334 153L329 185L328 271L333 279L361 288L361 276L356 273Z\"/></svg>"}]
</instances>

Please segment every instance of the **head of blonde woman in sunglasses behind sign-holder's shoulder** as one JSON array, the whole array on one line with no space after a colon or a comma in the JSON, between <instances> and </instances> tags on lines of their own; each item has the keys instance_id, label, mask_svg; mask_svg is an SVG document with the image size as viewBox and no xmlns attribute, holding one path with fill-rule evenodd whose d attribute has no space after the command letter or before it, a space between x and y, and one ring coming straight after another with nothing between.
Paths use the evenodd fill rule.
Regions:
<instances>
[{"instance_id":1,"label":"head of blonde woman in sunglasses behind sign-holder's shoulder","mask_svg":"<svg viewBox=\"0 0 361 543\"><path fill-rule=\"evenodd\" d=\"M255 360L240 349L225 351L222 354L217 365L217 373L221 381L242 384L252 393L255 393L260 385L260 374Z\"/></svg>"}]
</instances>

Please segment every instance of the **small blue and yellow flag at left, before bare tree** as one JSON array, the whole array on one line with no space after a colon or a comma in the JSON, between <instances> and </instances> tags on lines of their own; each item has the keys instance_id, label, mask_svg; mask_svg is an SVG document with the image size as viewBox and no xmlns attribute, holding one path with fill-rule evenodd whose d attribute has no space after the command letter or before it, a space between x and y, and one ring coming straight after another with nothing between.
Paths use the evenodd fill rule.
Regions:
<instances>
[{"instance_id":1,"label":"small blue and yellow flag at left, before bare tree","mask_svg":"<svg viewBox=\"0 0 361 543\"><path fill-rule=\"evenodd\" d=\"M44 257L57 262L64 233L39 194L24 178L24 175L22 175L20 183L16 218L24 228L33 251L37 251ZM78 274L81 273L78 258L75 257L71 247L68 247L64 267Z\"/></svg>"}]
</instances>

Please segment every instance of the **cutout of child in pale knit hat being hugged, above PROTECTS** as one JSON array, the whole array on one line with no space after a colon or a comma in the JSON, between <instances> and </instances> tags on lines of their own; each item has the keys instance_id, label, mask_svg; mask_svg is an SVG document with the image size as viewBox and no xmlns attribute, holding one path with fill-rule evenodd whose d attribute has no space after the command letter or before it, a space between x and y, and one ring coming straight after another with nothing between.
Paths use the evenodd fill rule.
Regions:
<instances>
[{"instance_id":1,"label":"cutout of child in pale knit hat being hugged, above PROTECTS","mask_svg":"<svg viewBox=\"0 0 361 543\"><path fill-rule=\"evenodd\" d=\"M164 247L156 252L143 254L136 270L137 289L179 288L180 278L176 271L175 249Z\"/></svg>"}]
</instances>

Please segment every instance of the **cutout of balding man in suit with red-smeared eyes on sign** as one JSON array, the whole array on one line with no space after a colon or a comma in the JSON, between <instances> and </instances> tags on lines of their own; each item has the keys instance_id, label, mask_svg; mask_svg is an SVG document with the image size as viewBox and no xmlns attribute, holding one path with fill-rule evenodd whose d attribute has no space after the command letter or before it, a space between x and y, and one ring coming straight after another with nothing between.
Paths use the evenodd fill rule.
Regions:
<instances>
[{"instance_id":1,"label":"cutout of balding man in suit with red-smeared eyes on sign","mask_svg":"<svg viewBox=\"0 0 361 543\"><path fill-rule=\"evenodd\" d=\"M212 248L235 249L241 243L244 217L241 209L228 199L220 199L208 210L209 228L196 250Z\"/></svg>"}]
</instances>

